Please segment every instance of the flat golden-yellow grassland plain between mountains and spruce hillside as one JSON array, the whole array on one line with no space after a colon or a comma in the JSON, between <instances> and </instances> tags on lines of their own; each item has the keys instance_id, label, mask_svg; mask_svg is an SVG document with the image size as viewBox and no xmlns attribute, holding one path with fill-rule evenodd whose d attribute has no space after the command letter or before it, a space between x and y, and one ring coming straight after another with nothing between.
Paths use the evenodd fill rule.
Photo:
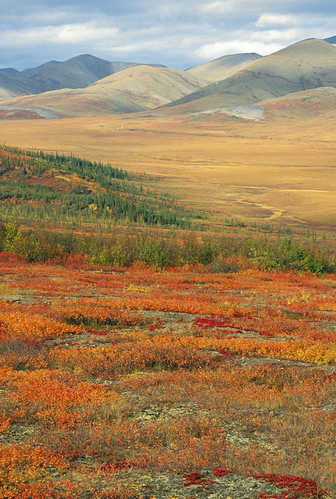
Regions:
<instances>
[{"instance_id":1,"label":"flat golden-yellow grassland plain between mountains and spruce hillside","mask_svg":"<svg viewBox=\"0 0 336 499\"><path fill-rule=\"evenodd\" d=\"M335 224L332 111L309 121L277 114L277 121L270 116L260 123L145 114L2 121L1 142L72 152L158 176L157 187L217 220Z\"/></svg>"}]
</instances>

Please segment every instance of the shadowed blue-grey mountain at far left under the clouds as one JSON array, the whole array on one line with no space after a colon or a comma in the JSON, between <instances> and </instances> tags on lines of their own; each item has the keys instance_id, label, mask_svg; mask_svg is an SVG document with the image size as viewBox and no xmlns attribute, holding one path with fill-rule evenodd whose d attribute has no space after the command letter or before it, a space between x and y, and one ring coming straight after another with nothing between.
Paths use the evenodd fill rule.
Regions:
<instances>
[{"instance_id":1,"label":"shadowed blue-grey mountain at far left under the clouds","mask_svg":"<svg viewBox=\"0 0 336 499\"><path fill-rule=\"evenodd\" d=\"M61 88L83 88L117 71L140 65L138 62L111 62L84 54L64 62L52 60L24 71L0 70L0 78L6 73L8 85L12 86L11 89L6 87L10 96L22 95L17 88L24 88L24 94L31 95ZM162 64L149 65L166 67Z\"/></svg>"}]
</instances>

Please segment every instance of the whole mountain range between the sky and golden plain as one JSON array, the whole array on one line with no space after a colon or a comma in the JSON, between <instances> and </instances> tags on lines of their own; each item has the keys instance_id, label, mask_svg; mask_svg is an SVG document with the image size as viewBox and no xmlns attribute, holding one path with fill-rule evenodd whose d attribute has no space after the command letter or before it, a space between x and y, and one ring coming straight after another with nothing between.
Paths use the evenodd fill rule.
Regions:
<instances>
[{"instance_id":1,"label":"whole mountain range between the sky and golden plain","mask_svg":"<svg viewBox=\"0 0 336 499\"><path fill-rule=\"evenodd\" d=\"M268 56L225 55L184 71L88 54L24 71L3 68L0 118L64 118L155 108L169 115L218 110L232 114L237 106L275 109L271 103L279 107L286 96L292 104L317 99L314 102L328 101L335 107L335 42L336 36L310 38Z\"/></svg>"}]
</instances>

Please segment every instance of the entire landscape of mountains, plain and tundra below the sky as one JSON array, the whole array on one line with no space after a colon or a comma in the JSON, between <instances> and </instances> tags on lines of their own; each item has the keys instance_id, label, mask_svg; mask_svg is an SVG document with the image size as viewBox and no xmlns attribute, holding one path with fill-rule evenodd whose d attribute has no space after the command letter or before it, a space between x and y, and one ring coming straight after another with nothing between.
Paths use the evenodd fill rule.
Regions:
<instances>
[{"instance_id":1,"label":"entire landscape of mountains, plain and tundra below the sky","mask_svg":"<svg viewBox=\"0 0 336 499\"><path fill-rule=\"evenodd\" d=\"M0 499L336 498L335 41L0 69Z\"/></svg>"}]
</instances>

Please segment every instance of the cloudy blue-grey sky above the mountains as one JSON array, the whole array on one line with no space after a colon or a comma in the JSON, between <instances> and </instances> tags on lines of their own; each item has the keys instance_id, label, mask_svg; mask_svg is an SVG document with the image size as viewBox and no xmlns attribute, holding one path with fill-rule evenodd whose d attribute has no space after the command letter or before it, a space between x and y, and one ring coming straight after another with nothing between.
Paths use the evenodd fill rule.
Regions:
<instances>
[{"instance_id":1,"label":"cloudy blue-grey sky above the mountains","mask_svg":"<svg viewBox=\"0 0 336 499\"><path fill-rule=\"evenodd\" d=\"M336 35L336 0L0 0L0 68L91 54L186 69Z\"/></svg>"}]
</instances>

